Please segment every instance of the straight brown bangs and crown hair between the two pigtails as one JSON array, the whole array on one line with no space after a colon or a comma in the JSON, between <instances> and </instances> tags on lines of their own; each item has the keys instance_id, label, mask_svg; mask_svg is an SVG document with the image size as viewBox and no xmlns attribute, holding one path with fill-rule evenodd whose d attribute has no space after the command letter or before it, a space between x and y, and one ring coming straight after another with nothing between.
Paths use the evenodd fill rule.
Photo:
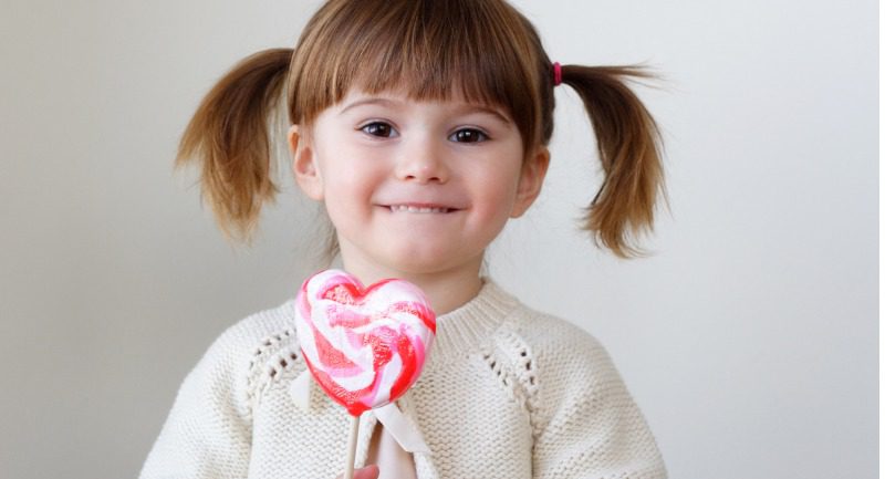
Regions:
<instances>
[{"instance_id":1,"label":"straight brown bangs and crown hair between the two pigtails","mask_svg":"<svg viewBox=\"0 0 885 479\"><path fill-rule=\"evenodd\" d=\"M289 105L311 123L351 88L504 110L537 144L539 64L527 23L494 0L332 0L295 50Z\"/></svg>"}]
</instances>

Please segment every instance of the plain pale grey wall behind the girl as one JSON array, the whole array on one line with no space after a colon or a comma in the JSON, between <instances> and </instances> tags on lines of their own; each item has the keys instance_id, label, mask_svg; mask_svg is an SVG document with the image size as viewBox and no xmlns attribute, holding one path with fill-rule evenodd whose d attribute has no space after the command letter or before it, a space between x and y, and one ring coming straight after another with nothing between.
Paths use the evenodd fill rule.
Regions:
<instances>
[{"instance_id":1,"label":"plain pale grey wall behind the girl","mask_svg":"<svg viewBox=\"0 0 885 479\"><path fill-rule=\"evenodd\" d=\"M3 2L0 476L136 476L211 341L311 270L284 164L235 251L171 162L214 81L317 3ZM876 477L877 2L516 3L554 60L667 76L636 91L671 212L631 262L574 228L601 176L559 88L545 190L492 275L607 346L670 477Z\"/></svg>"}]
</instances>

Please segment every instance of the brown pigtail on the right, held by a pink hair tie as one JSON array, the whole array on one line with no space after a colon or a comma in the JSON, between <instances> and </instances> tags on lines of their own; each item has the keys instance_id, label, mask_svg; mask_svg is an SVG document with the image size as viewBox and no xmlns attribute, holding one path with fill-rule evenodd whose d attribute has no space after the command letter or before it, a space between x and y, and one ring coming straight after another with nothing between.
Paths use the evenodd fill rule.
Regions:
<instances>
[{"instance_id":1,"label":"brown pigtail on the right, held by a pink hair tie","mask_svg":"<svg viewBox=\"0 0 885 479\"><path fill-rule=\"evenodd\" d=\"M645 253L627 243L643 230L654 231L658 190L666 200L657 124L622 77L654 79L638 66L563 65L562 83L584 102L596 135L605 174L602 187L585 209L583 228L593 242L624 259Z\"/></svg>"}]
</instances>

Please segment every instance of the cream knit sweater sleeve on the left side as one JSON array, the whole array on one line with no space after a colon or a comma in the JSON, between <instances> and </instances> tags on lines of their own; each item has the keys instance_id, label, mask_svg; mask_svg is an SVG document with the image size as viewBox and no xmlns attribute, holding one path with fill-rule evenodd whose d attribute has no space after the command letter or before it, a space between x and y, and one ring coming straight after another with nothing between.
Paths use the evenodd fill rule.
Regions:
<instances>
[{"instance_id":1,"label":"cream knit sweater sleeve on the left side","mask_svg":"<svg viewBox=\"0 0 885 479\"><path fill-rule=\"evenodd\" d=\"M256 323L248 317L229 327L187 375L140 479L247 477L249 362L262 330Z\"/></svg>"}]
</instances>

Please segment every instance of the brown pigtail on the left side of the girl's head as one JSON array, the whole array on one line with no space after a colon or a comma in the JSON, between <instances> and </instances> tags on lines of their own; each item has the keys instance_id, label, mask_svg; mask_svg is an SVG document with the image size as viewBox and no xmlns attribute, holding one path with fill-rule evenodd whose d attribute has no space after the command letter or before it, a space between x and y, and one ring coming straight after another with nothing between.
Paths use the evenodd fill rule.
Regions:
<instances>
[{"instance_id":1,"label":"brown pigtail on the left side of the girl's head","mask_svg":"<svg viewBox=\"0 0 885 479\"><path fill-rule=\"evenodd\" d=\"M241 60L202 98L178 145L175 168L200 164L202 198L228 240L250 243L261 206L280 191L268 121L291 58L291 49L270 49Z\"/></svg>"}]
</instances>

